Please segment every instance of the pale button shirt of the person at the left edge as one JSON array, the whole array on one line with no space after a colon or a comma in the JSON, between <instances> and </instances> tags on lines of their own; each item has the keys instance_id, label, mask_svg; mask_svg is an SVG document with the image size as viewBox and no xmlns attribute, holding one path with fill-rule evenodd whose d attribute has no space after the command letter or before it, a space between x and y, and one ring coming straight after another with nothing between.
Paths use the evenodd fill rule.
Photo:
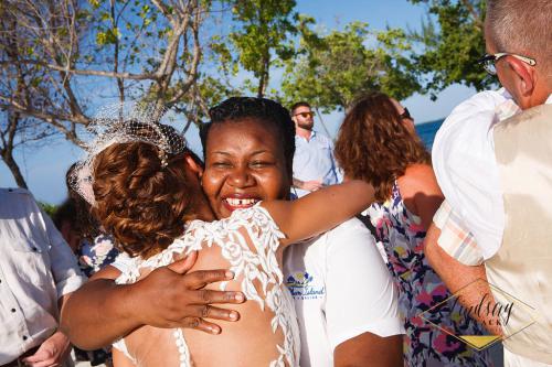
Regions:
<instances>
[{"instance_id":1,"label":"pale button shirt of the person at the left edge","mask_svg":"<svg viewBox=\"0 0 552 367\"><path fill-rule=\"evenodd\" d=\"M84 281L32 195L0 188L0 365L50 337L57 328L57 300Z\"/></svg>"}]
</instances>

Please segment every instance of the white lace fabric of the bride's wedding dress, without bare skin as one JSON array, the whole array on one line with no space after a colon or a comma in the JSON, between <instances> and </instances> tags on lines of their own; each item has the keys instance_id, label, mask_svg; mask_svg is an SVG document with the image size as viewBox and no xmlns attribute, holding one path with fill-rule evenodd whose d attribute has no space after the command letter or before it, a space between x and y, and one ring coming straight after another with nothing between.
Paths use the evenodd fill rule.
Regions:
<instances>
[{"instance_id":1,"label":"white lace fabric of the bride's wedding dress, without bare skin","mask_svg":"<svg viewBox=\"0 0 552 367\"><path fill-rule=\"evenodd\" d=\"M130 259L127 270L116 282L119 284L136 282L145 270L167 266L176 258L181 258L190 251L201 250L205 246L217 246L223 258L230 262L230 270L235 274L234 279L242 279L241 290L247 301L256 302L262 310L265 310L266 305L274 313L269 325L272 332L276 333L279 330L284 335L282 343L274 346L278 357L269 366L295 367L299 361L299 328L293 299L283 284L283 274L276 258L279 239L283 237L284 234L268 212L258 204L248 209L235 211L231 217L222 220L212 223L193 220L187 225L184 235L162 252L147 260ZM226 282L223 282L221 290L225 287ZM176 328L172 334L180 355L180 366L194 366L193 350L189 349L183 331ZM139 365L129 354L125 339L118 341L114 347Z\"/></svg>"}]
</instances>

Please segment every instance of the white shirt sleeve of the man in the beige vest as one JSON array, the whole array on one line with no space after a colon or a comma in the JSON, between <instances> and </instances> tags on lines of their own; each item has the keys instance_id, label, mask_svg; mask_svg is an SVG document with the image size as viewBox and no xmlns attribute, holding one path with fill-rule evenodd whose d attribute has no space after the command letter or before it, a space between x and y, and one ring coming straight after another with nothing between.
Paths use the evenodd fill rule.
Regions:
<instances>
[{"instance_id":1,"label":"white shirt sleeve of the man in the beige vest","mask_svg":"<svg viewBox=\"0 0 552 367\"><path fill-rule=\"evenodd\" d=\"M432 151L440 190L485 260L499 250L506 223L492 128L508 117L505 110L514 112L512 105L505 88L478 93L447 117Z\"/></svg>"}]
</instances>

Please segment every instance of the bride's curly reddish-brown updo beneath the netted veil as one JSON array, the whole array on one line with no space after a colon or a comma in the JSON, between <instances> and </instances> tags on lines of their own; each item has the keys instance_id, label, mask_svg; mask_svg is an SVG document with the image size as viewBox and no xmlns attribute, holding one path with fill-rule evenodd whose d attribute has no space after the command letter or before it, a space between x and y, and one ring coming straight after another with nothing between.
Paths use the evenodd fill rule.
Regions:
<instances>
[{"instance_id":1,"label":"bride's curly reddish-brown updo beneath the netted veil","mask_svg":"<svg viewBox=\"0 0 552 367\"><path fill-rule=\"evenodd\" d=\"M96 155L93 211L120 250L148 258L183 234L193 218L187 154L169 156L164 168L158 148L145 142L112 144Z\"/></svg>"}]
</instances>

